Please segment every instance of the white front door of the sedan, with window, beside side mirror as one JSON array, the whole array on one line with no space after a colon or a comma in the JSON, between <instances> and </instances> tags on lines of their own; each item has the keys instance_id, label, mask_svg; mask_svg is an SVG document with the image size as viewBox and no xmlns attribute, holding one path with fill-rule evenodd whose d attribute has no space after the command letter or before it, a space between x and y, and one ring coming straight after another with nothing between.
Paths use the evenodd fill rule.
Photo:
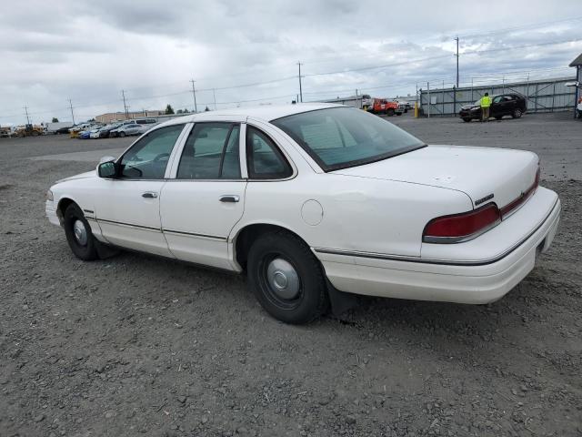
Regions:
<instances>
[{"instance_id":1,"label":"white front door of the sedan, with window, beside side mirror","mask_svg":"<svg viewBox=\"0 0 582 437\"><path fill-rule=\"evenodd\" d=\"M110 243L172 256L161 230L159 202L184 127L160 127L141 137L117 160L117 177L100 179L95 217Z\"/></svg>"}]
</instances>

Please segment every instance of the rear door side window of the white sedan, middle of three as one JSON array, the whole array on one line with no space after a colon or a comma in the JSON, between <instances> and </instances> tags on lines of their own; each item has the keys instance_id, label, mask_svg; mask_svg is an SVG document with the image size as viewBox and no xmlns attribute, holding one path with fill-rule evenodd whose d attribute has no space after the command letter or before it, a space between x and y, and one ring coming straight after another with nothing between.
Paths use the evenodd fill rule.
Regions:
<instances>
[{"instance_id":1,"label":"rear door side window of the white sedan, middle of three","mask_svg":"<svg viewBox=\"0 0 582 437\"><path fill-rule=\"evenodd\" d=\"M178 179L240 178L240 127L233 123L197 123L186 140Z\"/></svg>"}]
</instances>

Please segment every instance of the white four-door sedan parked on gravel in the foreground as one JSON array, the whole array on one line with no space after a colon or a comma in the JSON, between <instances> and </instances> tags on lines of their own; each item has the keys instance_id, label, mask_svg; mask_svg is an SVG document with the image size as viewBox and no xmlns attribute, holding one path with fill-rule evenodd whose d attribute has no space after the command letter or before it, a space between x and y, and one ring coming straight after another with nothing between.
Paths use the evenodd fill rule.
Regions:
<instances>
[{"instance_id":1,"label":"white four-door sedan parked on gravel in the foreground","mask_svg":"<svg viewBox=\"0 0 582 437\"><path fill-rule=\"evenodd\" d=\"M304 323L342 292L498 300L556 234L538 180L534 153L427 146L352 107L240 108L155 127L58 181L46 215L80 259L115 247L246 272L271 315Z\"/></svg>"}]
</instances>

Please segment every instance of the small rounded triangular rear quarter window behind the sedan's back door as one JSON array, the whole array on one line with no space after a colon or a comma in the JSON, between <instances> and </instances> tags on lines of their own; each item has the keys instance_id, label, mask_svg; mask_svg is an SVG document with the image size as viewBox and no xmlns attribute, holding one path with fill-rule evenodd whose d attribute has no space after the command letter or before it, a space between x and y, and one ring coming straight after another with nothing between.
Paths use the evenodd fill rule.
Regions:
<instances>
[{"instance_id":1,"label":"small rounded triangular rear quarter window behind the sedan's back door","mask_svg":"<svg viewBox=\"0 0 582 437\"><path fill-rule=\"evenodd\" d=\"M254 179L288 178L293 169L275 142L256 127L246 127L246 166Z\"/></svg>"}]
</instances>

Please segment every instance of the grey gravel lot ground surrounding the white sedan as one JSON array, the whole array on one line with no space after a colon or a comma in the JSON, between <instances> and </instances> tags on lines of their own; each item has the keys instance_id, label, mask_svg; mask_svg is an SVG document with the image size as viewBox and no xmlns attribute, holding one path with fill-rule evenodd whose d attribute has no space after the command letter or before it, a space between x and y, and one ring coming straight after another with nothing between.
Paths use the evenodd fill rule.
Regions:
<instances>
[{"instance_id":1,"label":"grey gravel lot ground surrounding the white sedan","mask_svg":"<svg viewBox=\"0 0 582 437\"><path fill-rule=\"evenodd\" d=\"M0 138L0 436L582 435L582 123L391 120L542 158L562 223L503 300L366 298L295 327L244 278L130 253L85 263L45 191L131 140Z\"/></svg>"}]
</instances>

